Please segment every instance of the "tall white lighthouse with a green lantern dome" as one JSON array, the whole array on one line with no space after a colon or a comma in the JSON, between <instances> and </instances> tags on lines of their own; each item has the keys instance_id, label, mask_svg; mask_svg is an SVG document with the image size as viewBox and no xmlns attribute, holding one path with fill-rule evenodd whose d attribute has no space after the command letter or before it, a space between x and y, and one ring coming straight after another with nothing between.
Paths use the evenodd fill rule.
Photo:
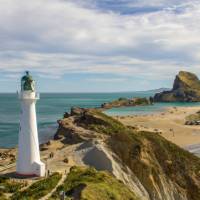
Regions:
<instances>
[{"instance_id":1,"label":"tall white lighthouse with a green lantern dome","mask_svg":"<svg viewBox=\"0 0 200 200\"><path fill-rule=\"evenodd\" d=\"M21 102L17 173L20 175L45 176L45 164L40 161L35 104L39 94L35 82L26 72L21 79Z\"/></svg>"}]
</instances>

